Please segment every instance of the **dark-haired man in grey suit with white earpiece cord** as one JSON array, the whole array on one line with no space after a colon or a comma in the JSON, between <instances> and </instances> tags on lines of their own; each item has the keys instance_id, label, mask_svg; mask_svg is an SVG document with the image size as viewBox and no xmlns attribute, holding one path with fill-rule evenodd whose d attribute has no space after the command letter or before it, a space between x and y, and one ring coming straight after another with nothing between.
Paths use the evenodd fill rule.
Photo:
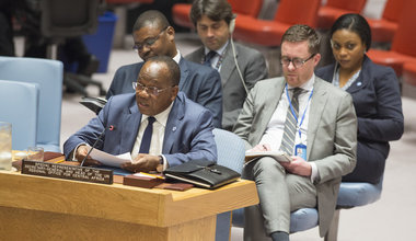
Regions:
<instances>
[{"instance_id":1,"label":"dark-haired man in grey suit with white earpiece cord","mask_svg":"<svg viewBox=\"0 0 416 241\"><path fill-rule=\"evenodd\" d=\"M232 42L234 14L226 0L194 1L190 19L204 46L185 58L206 62L206 56L215 51L207 65L221 76L222 128L231 130L247 92L258 80L267 78L265 58L259 51Z\"/></svg>"}]
</instances>

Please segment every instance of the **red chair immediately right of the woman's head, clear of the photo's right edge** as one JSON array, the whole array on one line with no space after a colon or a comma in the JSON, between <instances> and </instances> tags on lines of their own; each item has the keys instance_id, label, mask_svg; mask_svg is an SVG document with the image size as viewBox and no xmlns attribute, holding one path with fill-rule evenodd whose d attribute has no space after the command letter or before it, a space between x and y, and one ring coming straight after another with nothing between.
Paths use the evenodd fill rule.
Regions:
<instances>
[{"instance_id":1,"label":"red chair immediately right of the woman's head, clear of the photo's right edge","mask_svg":"<svg viewBox=\"0 0 416 241\"><path fill-rule=\"evenodd\" d=\"M380 20L367 19L371 27L371 37L377 43L391 43L397 30L403 0L388 0Z\"/></svg>"}]
</instances>

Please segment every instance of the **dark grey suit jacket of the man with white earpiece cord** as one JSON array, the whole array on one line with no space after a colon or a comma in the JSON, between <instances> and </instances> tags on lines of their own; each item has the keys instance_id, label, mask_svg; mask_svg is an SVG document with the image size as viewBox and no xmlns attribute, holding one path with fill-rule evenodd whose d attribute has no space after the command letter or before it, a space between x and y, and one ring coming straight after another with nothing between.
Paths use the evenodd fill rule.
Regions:
<instances>
[{"instance_id":1,"label":"dark grey suit jacket of the man with white earpiece cord","mask_svg":"<svg viewBox=\"0 0 416 241\"><path fill-rule=\"evenodd\" d=\"M235 43L235 57L241 73L249 91L258 80L267 78L268 70L262 53ZM190 53L185 58L201 62L204 58L204 46ZM222 83L222 128L231 130L239 117L245 97L245 89L235 67L231 43L227 46L222 66L220 69Z\"/></svg>"}]
</instances>

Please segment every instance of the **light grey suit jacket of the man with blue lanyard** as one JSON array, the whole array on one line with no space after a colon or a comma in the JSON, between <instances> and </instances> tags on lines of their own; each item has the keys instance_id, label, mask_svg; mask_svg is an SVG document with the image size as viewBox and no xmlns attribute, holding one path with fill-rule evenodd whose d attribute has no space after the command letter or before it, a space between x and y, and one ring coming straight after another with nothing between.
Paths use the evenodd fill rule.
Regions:
<instances>
[{"instance_id":1,"label":"light grey suit jacket of the man with blue lanyard","mask_svg":"<svg viewBox=\"0 0 416 241\"><path fill-rule=\"evenodd\" d=\"M262 80L250 92L233 130L247 150L261 141L285 84L284 78ZM342 175L356 164L357 118L351 96L319 78L309 113L307 160L316 164L320 174L315 186L323 237L334 215Z\"/></svg>"}]
</instances>

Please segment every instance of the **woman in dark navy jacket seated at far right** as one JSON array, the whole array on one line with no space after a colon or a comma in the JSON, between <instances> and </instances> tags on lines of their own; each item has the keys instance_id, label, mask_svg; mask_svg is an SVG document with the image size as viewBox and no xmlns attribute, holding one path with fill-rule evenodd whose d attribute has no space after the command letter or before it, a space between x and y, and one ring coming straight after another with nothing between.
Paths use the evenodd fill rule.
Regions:
<instances>
[{"instance_id":1,"label":"woman in dark navy jacket seated at far right","mask_svg":"<svg viewBox=\"0 0 416 241\"><path fill-rule=\"evenodd\" d=\"M351 94L358 118L357 165L343 181L377 183L384 172L389 141L403 135L398 80L392 68L375 65L366 55L371 30L363 16L339 16L330 37L335 64L315 74Z\"/></svg>"}]
</instances>

